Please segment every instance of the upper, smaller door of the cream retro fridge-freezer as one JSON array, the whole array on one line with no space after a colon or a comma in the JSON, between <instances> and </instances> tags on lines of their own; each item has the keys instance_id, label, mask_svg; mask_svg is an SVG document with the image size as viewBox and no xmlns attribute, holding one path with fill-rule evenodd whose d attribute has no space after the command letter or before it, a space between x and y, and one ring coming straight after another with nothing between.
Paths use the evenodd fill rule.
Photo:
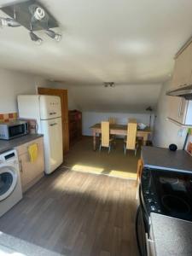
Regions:
<instances>
[{"instance_id":1,"label":"upper, smaller door of the cream retro fridge-freezer","mask_svg":"<svg viewBox=\"0 0 192 256\"><path fill-rule=\"evenodd\" d=\"M55 119L61 117L61 99L59 96L40 96L41 119Z\"/></svg>"}]
</instances>

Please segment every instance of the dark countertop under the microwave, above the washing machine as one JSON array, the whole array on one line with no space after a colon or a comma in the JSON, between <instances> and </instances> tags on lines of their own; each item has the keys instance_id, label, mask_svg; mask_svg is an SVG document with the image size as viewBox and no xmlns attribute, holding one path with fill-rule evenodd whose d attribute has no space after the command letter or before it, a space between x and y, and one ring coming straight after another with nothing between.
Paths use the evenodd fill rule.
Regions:
<instances>
[{"instance_id":1,"label":"dark countertop under the microwave, above the washing machine","mask_svg":"<svg viewBox=\"0 0 192 256\"><path fill-rule=\"evenodd\" d=\"M7 151L9 149L18 147L22 144L29 143L38 137L43 137L42 134L27 134L22 137L16 137L12 140L6 141L6 140L0 140L0 154L2 154L4 151Z\"/></svg>"}]
</instances>

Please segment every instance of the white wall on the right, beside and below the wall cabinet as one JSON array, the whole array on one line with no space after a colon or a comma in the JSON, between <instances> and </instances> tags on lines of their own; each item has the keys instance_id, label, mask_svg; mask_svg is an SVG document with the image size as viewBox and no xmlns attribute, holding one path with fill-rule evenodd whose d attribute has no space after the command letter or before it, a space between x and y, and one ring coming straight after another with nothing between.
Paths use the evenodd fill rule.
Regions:
<instances>
[{"instance_id":1,"label":"white wall on the right, beside and below the wall cabinet","mask_svg":"<svg viewBox=\"0 0 192 256\"><path fill-rule=\"evenodd\" d=\"M166 120L168 115L169 99L169 96L166 96L166 90L169 90L170 85L170 81L167 81L165 84L163 84L160 91L154 128L154 145L167 148L171 143L175 143L177 144L178 148L183 148L187 129L181 129L178 125Z\"/></svg>"}]
</instances>

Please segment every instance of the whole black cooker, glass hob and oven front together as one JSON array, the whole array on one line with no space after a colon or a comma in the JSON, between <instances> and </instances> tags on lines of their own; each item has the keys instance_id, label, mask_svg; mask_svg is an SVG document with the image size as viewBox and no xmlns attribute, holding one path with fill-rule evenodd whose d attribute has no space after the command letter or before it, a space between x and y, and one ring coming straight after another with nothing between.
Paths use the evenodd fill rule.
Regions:
<instances>
[{"instance_id":1,"label":"whole black cooker, glass hob and oven front together","mask_svg":"<svg viewBox=\"0 0 192 256\"><path fill-rule=\"evenodd\" d=\"M192 221L192 174L143 169L139 186L136 234L141 256L150 255L150 213ZM153 243L152 243L153 244Z\"/></svg>"}]
</instances>

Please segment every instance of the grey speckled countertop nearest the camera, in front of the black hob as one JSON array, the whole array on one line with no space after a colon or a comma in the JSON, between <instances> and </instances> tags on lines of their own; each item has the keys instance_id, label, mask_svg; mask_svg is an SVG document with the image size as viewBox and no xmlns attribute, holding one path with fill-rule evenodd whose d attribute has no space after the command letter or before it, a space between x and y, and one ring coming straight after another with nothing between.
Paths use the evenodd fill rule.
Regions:
<instances>
[{"instance_id":1,"label":"grey speckled countertop nearest the camera, in front of the black hob","mask_svg":"<svg viewBox=\"0 0 192 256\"><path fill-rule=\"evenodd\" d=\"M192 223L152 212L152 238L156 256L192 255Z\"/></svg>"}]
</instances>

